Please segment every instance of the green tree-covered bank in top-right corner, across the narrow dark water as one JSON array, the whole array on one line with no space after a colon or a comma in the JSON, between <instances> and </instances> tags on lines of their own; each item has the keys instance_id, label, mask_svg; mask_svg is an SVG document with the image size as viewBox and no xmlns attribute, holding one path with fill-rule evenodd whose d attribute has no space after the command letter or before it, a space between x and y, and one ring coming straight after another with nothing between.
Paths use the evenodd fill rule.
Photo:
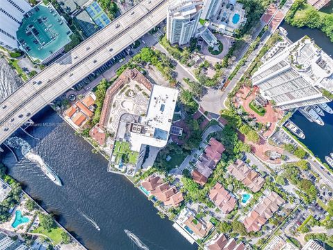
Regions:
<instances>
[{"instance_id":1,"label":"green tree-covered bank in top-right corner, across the narrow dark water","mask_svg":"<svg viewBox=\"0 0 333 250\"><path fill-rule=\"evenodd\" d=\"M307 0L296 0L287 13L287 23L298 28L319 28L333 42L333 13L327 14L310 6Z\"/></svg>"}]
</instances>

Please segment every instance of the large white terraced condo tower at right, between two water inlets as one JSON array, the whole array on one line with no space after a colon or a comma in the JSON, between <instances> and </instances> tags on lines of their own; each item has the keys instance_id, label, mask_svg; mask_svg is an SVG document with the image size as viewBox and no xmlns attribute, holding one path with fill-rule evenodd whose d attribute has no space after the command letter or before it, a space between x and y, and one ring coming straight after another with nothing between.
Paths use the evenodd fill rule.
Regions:
<instances>
[{"instance_id":1,"label":"large white terraced condo tower at right, between two water inlets","mask_svg":"<svg viewBox=\"0 0 333 250\"><path fill-rule=\"evenodd\" d=\"M333 59L305 37L267 60L252 81L282 109L324 103L321 89L333 92Z\"/></svg>"}]
</instances>

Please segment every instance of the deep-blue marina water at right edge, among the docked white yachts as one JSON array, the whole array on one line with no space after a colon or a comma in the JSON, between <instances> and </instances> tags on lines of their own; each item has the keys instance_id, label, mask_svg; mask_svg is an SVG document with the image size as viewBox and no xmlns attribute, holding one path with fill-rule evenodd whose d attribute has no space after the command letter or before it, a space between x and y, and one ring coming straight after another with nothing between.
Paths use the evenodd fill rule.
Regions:
<instances>
[{"instance_id":1,"label":"deep-blue marina water at right edge, among the docked white yachts","mask_svg":"<svg viewBox=\"0 0 333 250\"><path fill-rule=\"evenodd\" d=\"M333 108L333 103L327 103ZM305 139L300 139L307 147L325 163L325 156L330 156L333 152L333 115L324 111L325 117L321 117L324 126L315 122L309 122L299 111L293 114L291 122L295 123L305 133Z\"/></svg>"}]
</instances>

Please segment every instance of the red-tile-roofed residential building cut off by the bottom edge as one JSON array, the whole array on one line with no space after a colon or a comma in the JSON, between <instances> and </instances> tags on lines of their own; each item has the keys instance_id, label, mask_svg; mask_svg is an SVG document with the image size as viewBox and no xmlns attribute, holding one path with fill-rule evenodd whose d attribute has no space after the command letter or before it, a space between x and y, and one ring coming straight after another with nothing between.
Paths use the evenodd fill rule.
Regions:
<instances>
[{"instance_id":1,"label":"red-tile-roofed residential building cut off by the bottom edge","mask_svg":"<svg viewBox=\"0 0 333 250\"><path fill-rule=\"evenodd\" d=\"M243 242L237 244L234 238L228 239L223 233L216 235L205 246L205 250L245 250L247 247Z\"/></svg>"}]
</instances>

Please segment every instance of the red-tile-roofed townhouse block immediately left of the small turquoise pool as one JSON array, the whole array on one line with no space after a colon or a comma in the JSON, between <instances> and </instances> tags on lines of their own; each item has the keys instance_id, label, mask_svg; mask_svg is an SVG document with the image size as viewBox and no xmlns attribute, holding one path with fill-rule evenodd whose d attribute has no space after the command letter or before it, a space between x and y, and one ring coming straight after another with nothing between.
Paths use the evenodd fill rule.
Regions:
<instances>
[{"instance_id":1,"label":"red-tile-roofed townhouse block immediately left of the small turquoise pool","mask_svg":"<svg viewBox=\"0 0 333 250\"><path fill-rule=\"evenodd\" d=\"M210 190L210 199L223 211L225 215L234 210L234 206L237 204L237 200L232 197L230 192L223 188L221 183L216 183L214 188Z\"/></svg>"}]
</instances>

